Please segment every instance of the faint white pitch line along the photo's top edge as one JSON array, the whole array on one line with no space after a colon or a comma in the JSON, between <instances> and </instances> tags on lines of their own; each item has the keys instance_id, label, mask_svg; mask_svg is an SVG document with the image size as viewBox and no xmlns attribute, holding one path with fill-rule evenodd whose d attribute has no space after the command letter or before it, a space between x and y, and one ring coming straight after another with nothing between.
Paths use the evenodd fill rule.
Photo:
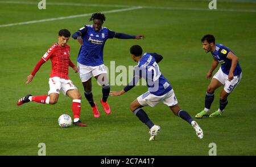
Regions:
<instances>
[{"instance_id":1,"label":"faint white pitch line along the photo's top edge","mask_svg":"<svg viewBox=\"0 0 256 167\"><path fill-rule=\"evenodd\" d=\"M20 2L20 1L0 1L0 3L13 3L13 4L25 4L25 5L37 5L38 2ZM135 7L128 5L106 5L106 4L93 4L93 3L59 3L59 2L46 2L46 5L59 5L59 6L93 6L93 7ZM153 8L153 9L165 9L165 10L196 10L196 11L228 11L228 12L256 12L256 10L246 10L246 9L214 9L210 10L208 3L205 8L186 8L186 7L162 7L162 6L141 6L143 8Z\"/></svg>"}]
</instances>

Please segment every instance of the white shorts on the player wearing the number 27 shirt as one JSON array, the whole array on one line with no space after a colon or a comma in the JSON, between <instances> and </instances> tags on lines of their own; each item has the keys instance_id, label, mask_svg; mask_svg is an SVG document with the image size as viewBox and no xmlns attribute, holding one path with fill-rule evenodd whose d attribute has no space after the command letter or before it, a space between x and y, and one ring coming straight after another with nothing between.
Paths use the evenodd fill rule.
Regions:
<instances>
[{"instance_id":1,"label":"white shorts on the player wearing the number 27 shirt","mask_svg":"<svg viewBox=\"0 0 256 167\"><path fill-rule=\"evenodd\" d=\"M163 104L166 104L168 106L174 106L177 104L177 99L174 94L174 89L171 89L171 91L167 92L162 96L156 96L147 91L146 93L137 97L137 100L139 104L141 104L142 106L149 105L151 107L154 107L156 104L162 101L163 101Z\"/></svg>"}]
</instances>

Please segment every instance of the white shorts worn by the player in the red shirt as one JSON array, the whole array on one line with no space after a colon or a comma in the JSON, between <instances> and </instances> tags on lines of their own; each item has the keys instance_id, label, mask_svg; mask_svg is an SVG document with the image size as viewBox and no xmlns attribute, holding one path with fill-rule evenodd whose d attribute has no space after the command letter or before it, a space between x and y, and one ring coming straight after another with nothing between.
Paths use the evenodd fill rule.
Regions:
<instances>
[{"instance_id":1,"label":"white shorts worn by the player in the red shirt","mask_svg":"<svg viewBox=\"0 0 256 167\"><path fill-rule=\"evenodd\" d=\"M51 93L58 93L60 91L66 96L68 90L77 89L75 85L73 85L70 79L63 79L57 76L53 78L49 78L49 91L48 95Z\"/></svg>"}]
</instances>

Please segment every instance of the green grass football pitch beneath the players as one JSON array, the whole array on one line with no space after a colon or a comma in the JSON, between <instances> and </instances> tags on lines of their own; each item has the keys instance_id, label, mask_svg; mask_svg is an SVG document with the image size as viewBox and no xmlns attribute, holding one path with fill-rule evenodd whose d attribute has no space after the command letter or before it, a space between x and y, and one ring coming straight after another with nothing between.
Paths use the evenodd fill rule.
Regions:
<instances>
[{"instance_id":1,"label":"green grass football pitch beneath the players","mask_svg":"<svg viewBox=\"0 0 256 167\"><path fill-rule=\"evenodd\" d=\"M11 3L13 2L13 3ZM28 3L33 2L33 3ZM38 155L38 144L46 144L46 155L208 155L209 143L216 143L217 155L256 155L256 3L217 1L217 10L209 10L209 1L47 1L39 10L39 1L0 1L0 155ZM56 3L53 3L56 2ZM61 5L61 4L62 5ZM89 5L88 5L89 4ZM243 77L229 96L229 104L221 118L196 119L204 130L198 139L192 127L172 114L168 106L145 107L151 120L162 127L156 140L148 142L148 129L129 110L130 103L147 91L138 86L120 97L109 97L110 115L100 105L101 87L93 79L94 100L101 112L94 118L83 95L79 76L72 68L69 76L82 95L81 120L87 127L61 128L57 118L72 115L72 100L60 95L55 105L31 102L16 106L27 93L46 95L51 62L45 63L34 80L25 84L27 75L40 57L57 40L57 32L67 28L71 33L89 22L90 16L23 25L1 25L59 18L98 11L106 13L104 27L116 32L137 35L144 40L110 39L104 48L104 63L115 66L135 66L130 57L131 45L139 44L145 52L162 54L159 63L170 80L182 109L193 118L204 108L204 98L210 80L205 79L212 56L204 53L200 39L207 33L216 42L228 46L240 60ZM71 59L76 64L80 46L69 40ZM215 71L216 72L216 71ZM115 75L118 75L116 73ZM112 90L123 86L112 85ZM211 111L218 109L218 96Z\"/></svg>"}]
</instances>

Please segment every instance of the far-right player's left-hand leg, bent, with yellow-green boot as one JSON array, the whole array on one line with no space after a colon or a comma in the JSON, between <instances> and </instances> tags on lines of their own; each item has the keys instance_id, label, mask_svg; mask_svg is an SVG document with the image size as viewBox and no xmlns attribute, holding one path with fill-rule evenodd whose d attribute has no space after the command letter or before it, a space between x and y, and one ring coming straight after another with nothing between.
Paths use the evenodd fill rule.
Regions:
<instances>
[{"instance_id":1,"label":"far-right player's left-hand leg, bent, with yellow-green boot","mask_svg":"<svg viewBox=\"0 0 256 167\"><path fill-rule=\"evenodd\" d=\"M205 102L204 102L204 110L200 113L196 114L196 118L203 118L204 116L209 116L209 109L212 105L212 102L214 100L214 91L220 87L221 85L224 85L225 78L222 75L221 69L216 72L216 74L213 76L210 84L207 87L207 92L205 94Z\"/></svg>"}]
</instances>

